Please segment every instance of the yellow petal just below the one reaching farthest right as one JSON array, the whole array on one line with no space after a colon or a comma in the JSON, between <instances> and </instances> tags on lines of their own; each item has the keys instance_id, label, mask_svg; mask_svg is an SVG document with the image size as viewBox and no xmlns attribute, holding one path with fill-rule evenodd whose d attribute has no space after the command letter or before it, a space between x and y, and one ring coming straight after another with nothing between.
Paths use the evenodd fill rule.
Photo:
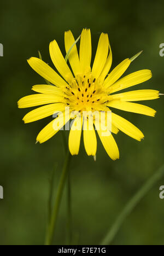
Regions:
<instances>
[{"instance_id":1,"label":"yellow petal just below the one reaching farthest right","mask_svg":"<svg viewBox=\"0 0 164 256\"><path fill-rule=\"evenodd\" d=\"M148 106L138 104L138 103L133 103L133 102L113 100L113 101L109 101L107 106L118 108L128 112L149 115L150 117L154 117L156 113L156 111L153 108L149 108Z\"/></svg>"}]
</instances>

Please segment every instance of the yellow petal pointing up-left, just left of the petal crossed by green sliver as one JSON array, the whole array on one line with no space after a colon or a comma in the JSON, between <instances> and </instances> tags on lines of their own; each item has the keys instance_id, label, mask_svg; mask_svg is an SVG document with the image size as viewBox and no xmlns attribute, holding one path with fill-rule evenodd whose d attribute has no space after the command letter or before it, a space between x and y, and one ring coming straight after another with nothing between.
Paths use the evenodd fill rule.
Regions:
<instances>
[{"instance_id":1,"label":"yellow petal pointing up-left, just left of the petal crossed by green sliver","mask_svg":"<svg viewBox=\"0 0 164 256\"><path fill-rule=\"evenodd\" d=\"M70 82L73 79L73 75L61 53L60 48L58 47L56 40L50 43L49 49L51 60L54 63L56 69L62 75L62 77L66 79L67 82Z\"/></svg>"}]
</instances>

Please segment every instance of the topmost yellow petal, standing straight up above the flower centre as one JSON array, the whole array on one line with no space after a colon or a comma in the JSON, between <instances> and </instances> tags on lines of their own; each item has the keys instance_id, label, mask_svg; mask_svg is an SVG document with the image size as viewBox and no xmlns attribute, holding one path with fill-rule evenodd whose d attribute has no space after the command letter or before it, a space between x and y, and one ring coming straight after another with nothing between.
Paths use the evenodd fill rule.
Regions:
<instances>
[{"instance_id":1,"label":"topmost yellow petal, standing straight up above the flower centre","mask_svg":"<svg viewBox=\"0 0 164 256\"><path fill-rule=\"evenodd\" d=\"M92 56L91 32L84 28L80 39L80 71L81 73L90 72Z\"/></svg>"}]
</instances>

